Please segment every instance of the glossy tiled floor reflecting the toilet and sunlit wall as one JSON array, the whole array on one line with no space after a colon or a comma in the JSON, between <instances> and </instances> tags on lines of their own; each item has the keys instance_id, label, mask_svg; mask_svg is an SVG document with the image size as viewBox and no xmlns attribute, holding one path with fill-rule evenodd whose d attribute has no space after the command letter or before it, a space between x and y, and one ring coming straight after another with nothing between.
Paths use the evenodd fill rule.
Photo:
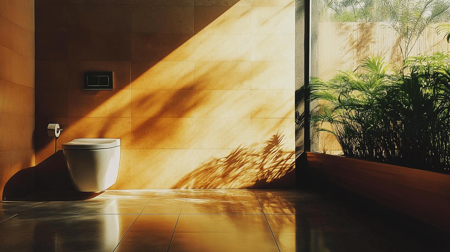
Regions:
<instances>
[{"instance_id":1,"label":"glossy tiled floor reflecting the toilet and sunlit wall","mask_svg":"<svg viewBox=\"0 0 450 252\"><path fill-rule=\"evenodd\" d=\"M0 202L0 221L1 251L437 251L298 190L112 190L83 201Z\"/></svg>"}]
</instances>

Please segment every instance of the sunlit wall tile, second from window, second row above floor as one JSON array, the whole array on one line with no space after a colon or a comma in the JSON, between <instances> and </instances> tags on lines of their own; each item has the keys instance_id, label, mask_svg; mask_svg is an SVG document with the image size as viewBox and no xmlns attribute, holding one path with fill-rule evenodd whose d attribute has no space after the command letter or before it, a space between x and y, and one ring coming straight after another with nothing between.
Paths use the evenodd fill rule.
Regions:
<instances>
[{"instance_id":1,"label":"sunlit wall tile, second from window, second row above floor","mask_svg":"<svg viewBox=\"0 0 450 252\"><path fill-rule=\"evenodd\" d=\"M194 148L250 145L250 118L195 118Z\"/></svg>"}]
</instances>

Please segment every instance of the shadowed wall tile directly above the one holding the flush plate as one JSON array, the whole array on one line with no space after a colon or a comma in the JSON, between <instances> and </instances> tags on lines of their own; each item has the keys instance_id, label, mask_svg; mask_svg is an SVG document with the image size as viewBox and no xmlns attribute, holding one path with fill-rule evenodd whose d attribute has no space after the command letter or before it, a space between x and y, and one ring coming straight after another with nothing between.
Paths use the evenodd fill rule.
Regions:
<instances>
[{"instance_id":1,"label":"shadowed wall tile directly above the one holding the flush plate","mask_svg":"<svg viewBox=\"0 0 450 252\"><path fill-rule=\"evenodd\" d=\"M68 56L75 60L129 60L128 32L70 32Z\"/></svg>"}]
</instances>

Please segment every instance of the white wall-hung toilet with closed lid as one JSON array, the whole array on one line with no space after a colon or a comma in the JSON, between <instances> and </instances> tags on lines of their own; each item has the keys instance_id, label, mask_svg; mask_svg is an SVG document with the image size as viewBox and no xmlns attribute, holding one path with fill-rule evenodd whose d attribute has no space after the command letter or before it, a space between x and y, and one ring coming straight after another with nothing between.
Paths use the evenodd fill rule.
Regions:
<instances>
[{"instance_id":1,"label":"white wall-hung toilet with closed lid","mask_svg":"<svg viewBox=\"0 0 450 252\"><path fill-rule=\"evenodd\" d=\"M78 138L63 145L69 175L81 192L99 192L116 183L120 139Z\"/></svg>"}]
</instances>

